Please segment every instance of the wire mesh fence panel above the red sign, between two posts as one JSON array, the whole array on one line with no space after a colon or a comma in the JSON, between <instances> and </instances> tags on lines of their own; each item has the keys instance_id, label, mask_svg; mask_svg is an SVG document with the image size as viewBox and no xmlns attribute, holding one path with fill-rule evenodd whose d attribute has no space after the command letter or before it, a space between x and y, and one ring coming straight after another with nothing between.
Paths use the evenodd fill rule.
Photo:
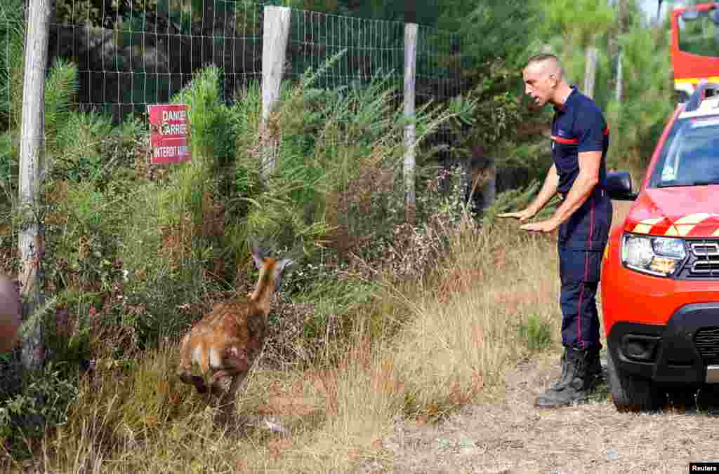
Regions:
<instances>
[{"instance_id":1,"label":"wire mesh fence panel above the red sign, between two posts","mask_svg":"<svg viewBox=\"0 0 719 474\"><path fill-rule=\"evenodd\" d=\"M115 119L167 103L205 65L223 93L258 79L262 4L233 0L58 0L50 56L78 66L78 103Z\"/></svg>"}]
</instances>

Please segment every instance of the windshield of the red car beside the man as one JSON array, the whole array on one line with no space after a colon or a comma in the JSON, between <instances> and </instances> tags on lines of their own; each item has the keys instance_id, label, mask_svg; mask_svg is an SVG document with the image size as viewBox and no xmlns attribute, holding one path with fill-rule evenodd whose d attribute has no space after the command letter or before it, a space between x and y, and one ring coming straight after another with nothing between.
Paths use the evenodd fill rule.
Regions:
<instances>
[{"instance_id":1,"label":"windshield of the red car beside the man","mask_svg":"<svg viewBox=\"0 0 719 474\"><path fill-rule=\"evenodd\" d=\"M656 187L719 185L719 116L682 119L664 144Z\"/></svg>"}]
</instances>

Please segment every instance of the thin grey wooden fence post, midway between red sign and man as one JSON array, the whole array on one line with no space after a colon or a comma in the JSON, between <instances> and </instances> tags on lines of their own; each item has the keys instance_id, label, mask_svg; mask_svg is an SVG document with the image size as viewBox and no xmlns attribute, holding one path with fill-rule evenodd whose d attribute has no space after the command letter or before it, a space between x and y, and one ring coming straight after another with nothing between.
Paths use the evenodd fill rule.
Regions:
<instances>
[{"instance_id":1,"label":"thin grey wooden fence post, midway between red sign and man","mask_svg":"<svg viewBox=\"0 0 719 474\"><path fill-rule=\"evenodd\" d=\"M405 125L404 141L404 184L405 184L405 220L414 223L416 218L415 196L415 141L414 126L415 94L414 86L417 66L417 24L405 24L405 55L404 55L404 116L408 120Z\"/></svg>"}]
</instances>

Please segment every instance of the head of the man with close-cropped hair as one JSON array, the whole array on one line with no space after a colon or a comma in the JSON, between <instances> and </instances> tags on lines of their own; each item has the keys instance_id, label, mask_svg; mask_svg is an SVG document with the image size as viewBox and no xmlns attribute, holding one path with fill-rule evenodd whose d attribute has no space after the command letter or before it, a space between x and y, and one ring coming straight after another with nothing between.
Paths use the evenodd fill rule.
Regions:
<instances>
[{"instance_id":1,"label":"head of the man with close-cropped hair","mask_svg":"<svg viewBox=\"0 0 719 474\"><path fill-rule=\"evenodd\" d=\"M568 88L562 75L562 64L555 55L536 55L529 58L522 71L524 93L533 99L537 107L547 102L561 104L564 101L564 88Z\"/></svg>"}]
</instances>

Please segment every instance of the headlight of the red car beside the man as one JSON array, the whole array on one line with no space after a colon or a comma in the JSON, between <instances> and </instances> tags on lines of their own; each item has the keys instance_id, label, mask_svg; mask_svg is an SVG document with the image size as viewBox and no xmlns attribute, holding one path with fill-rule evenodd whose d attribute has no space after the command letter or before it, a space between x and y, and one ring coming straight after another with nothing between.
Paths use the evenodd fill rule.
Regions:
<instances>
[{"instance_id":1,"label":"headlight of the red car beside the man","mask_svg":"<svg viewBox=\"0 0 719 474\"><path fill-rule=\"evenodd\" d=\"M681 238L638 236L622 238L622 263L630 269L656 276L672 276L687 258Z\"/></svg>"}]
</instances>

